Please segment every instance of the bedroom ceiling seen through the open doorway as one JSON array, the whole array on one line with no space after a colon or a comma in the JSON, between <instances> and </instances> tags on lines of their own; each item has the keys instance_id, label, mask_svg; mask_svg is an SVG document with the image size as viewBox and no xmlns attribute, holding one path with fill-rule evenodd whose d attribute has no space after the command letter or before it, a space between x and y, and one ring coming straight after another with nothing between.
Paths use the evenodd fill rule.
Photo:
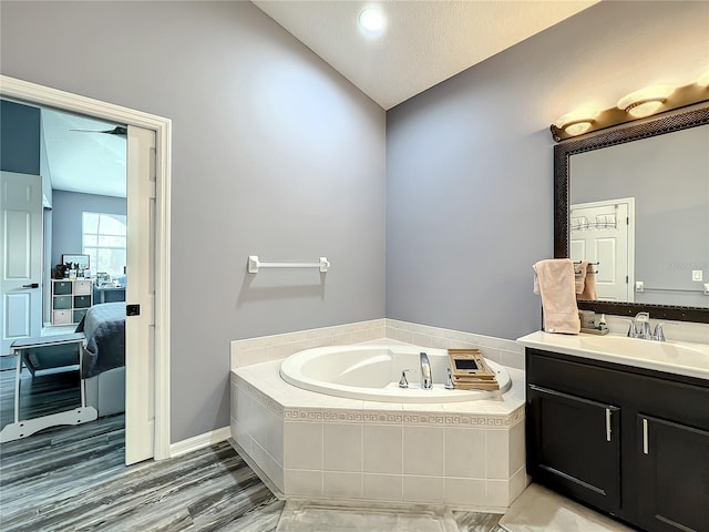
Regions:
<instances>
[{"instance_id":1,"label":"bedroom ceiling seen through the open doorway","mask_svg":"<svg viewBox=\"0 0 709 532\"><path fill-rule=\"evenodd\" d=\"M126 137L72 131L110 131L116 124L50 109L41 114L52 188L125 197Z\"/></svg>"}]
</instances>

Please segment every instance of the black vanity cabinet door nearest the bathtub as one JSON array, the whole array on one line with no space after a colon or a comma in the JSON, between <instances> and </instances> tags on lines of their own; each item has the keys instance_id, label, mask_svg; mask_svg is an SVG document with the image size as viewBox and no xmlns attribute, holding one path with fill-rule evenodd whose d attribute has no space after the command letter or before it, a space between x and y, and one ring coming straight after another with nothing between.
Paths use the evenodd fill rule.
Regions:
<instances>
[{"instance_id":1,"label":"black vanity cabinet door nearest the bathtub","mask_svg":"<svg viewBox=\"0 0 709 532\"><path fill-rule=\"evenodd\" d=\"M528 385L527 470L600 510L620 508L620 410Z\"/></svg>"}]
</instances>

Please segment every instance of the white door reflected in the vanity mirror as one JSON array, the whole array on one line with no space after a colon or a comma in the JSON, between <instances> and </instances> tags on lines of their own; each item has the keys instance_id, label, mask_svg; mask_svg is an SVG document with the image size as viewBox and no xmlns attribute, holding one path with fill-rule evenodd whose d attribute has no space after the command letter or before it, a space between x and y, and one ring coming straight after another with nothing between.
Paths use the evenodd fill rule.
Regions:
<instances>
[{"instance_id":1,"label":"white door reflected in the vanity mirror","mask_svg":"<svg viewBox=\"0 0 709 532\"><path fill-rule=\"evenodd\" d=\"M633 301L635 198L572 205L571 258L595 265L599 300Z\"/></svg>"}]
</instances>

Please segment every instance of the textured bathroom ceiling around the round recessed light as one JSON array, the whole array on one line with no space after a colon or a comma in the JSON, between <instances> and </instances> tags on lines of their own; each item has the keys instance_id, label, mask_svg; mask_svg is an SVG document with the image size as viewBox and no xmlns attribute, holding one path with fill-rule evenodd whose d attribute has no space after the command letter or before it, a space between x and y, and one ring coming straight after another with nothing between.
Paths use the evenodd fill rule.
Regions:
<instances>
[{"instance_id":1,"label":"textured bathroom ceiling around the round recessed light","mask_svg":"<svg viewBox=\"0 0 709 532\"><path fill-rule=\"evenodd\" d=\"M251 0L383 109L419 94L598 0ZM359 13L379 6L387 31Z\"/></svg>"}]
</instances>

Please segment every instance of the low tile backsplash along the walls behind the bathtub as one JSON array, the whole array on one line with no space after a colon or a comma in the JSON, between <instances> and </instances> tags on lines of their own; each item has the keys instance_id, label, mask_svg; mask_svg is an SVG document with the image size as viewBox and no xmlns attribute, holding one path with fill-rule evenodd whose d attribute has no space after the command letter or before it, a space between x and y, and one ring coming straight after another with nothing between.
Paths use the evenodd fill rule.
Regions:
<instances>
[{"instance_id":1,"label":"low tile backsplash along the walls behind the bathtub","mask_svg":"<svg viewBox=\"0 0 709 532\"><path fill-rule=\"evenodd\" d=\"M524 348L514 340L388 318L234 340L230 344L230 368L280 360L314 347L343 346L380 338L436 349L475 347L490 360L508 368L524 369Z\"/></svg>"}]
</instances>

